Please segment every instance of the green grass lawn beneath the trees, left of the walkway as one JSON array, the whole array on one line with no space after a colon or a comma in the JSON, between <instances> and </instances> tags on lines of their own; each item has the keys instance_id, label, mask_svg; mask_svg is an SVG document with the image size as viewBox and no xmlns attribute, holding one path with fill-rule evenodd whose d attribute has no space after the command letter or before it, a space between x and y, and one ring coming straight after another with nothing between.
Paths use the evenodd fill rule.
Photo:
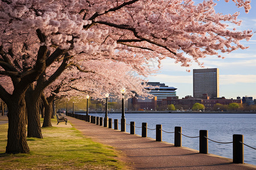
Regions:
<instances>
[{"instance_id":1,"label":"green grass lawn beneath the trees, left of the walkway","mask_svg":"<svg viewBox=\"0 0 256 170\"><path fill-rule=\"evenodd\" d=\"M56 121L52 119L54 124ZM5 154L8 125L0 125L0 169L123 169L119 153L75 128L42 128L43 139L27 138L30 154Z\"/></svg>"}]
</instances>

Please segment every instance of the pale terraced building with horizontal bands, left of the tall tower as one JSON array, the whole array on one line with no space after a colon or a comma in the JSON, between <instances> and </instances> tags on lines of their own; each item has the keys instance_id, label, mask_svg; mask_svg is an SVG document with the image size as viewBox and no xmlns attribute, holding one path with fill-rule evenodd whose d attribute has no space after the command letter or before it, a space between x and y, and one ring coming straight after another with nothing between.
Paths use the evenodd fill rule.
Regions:
<instances>
[{"instance_id":1,"label":"pale terraced building with horizontal bands, left of the tall tower","mask_svg":"<svg viewBox=\"0 0 256 170\"><path fill-rule=\"evenodd\" d=\"M177 97L175 87L168 87L164 83L160 82L147 82L148 85L154 86L153 88L148 87L147 90L150 90L150 94L157 97L157 100L166 99L167 97ZM159 87L156 87L159 86Z\"/></svg>"}]
</instances>

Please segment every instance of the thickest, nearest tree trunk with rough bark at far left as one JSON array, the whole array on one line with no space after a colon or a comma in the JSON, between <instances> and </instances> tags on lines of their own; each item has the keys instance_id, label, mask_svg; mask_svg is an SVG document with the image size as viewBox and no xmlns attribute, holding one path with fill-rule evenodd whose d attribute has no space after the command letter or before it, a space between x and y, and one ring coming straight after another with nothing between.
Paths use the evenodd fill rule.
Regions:
<instances>
[{"instance_id":1,"label":"thickest, nearest tree trunk with rough bark at far left","mask_svg":"<svg viewBox=\"0 0 256 170\"><path fill-rule=\"evenodd\" d=\"M9 108L9 128L7 135L6 153L8 154L27 154L30 152L26 139L26 104L24 97L24 95L13 97L13 99L7 103L7 107Z\"/></svg>"}]
</instances>

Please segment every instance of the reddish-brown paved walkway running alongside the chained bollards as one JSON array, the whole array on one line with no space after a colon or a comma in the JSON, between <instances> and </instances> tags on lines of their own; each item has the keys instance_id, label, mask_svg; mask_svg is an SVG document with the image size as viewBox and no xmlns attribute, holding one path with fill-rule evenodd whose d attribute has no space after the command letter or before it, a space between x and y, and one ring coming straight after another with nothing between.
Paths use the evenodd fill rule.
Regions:
<instances>
[{"instance_id":1,"label":"reddish-brown paved walkway running alongside the chained bollards","mask_svg":"<svg viewBox=\"0 0 256 170\"><path fill-rule=\"evenodd\" d=\"M221 156L199 154L186 147L174 147L171 143L67 118L86 137L121 151L131 169L256 169L255 165L233 164L231 159Z\"/></svg>"}]
</instances>

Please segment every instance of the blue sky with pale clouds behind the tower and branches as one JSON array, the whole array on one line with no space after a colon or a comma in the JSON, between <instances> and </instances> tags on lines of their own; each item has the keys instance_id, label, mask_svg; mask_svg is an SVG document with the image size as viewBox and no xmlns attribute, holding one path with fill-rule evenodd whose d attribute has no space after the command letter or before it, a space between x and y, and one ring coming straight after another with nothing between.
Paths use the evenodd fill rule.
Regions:
<instances>
[{"instance_id":1,"label":"blue sky with pale clouds behind the tower and branches","mask_svg":"<svg viewBox=\"0 0 256 170\"><path fill-rule=\"evenodd\" d=\"M196 2L200 1L196 0ZM230 54L221 53L225 59L209 56L199 61L204 62L205 69L219 69L220 97L236 99L237 96L252 96L256 99L256 0L251 0L251 10L248 14L245 14L244 8L237 8L233 2L226 3L224 0L216 2L218 4L215 7L216 11L222 14L240 11L238 18L242 20L242 24L236 26L237 31L250 29L255 33L250 41L240 41L241 44L250 46L248 49L235 50ZM201 67L197 63L192 63L191 67L181 67L179 63L174 63L174 59L167 58L162 61L162 69L159 73L149 76L148 80L177 88L176 93L179 98L193 96L193 69L201 69ZM186 70L191 72L188 73Z\"/></svg>"}]
</instances>

